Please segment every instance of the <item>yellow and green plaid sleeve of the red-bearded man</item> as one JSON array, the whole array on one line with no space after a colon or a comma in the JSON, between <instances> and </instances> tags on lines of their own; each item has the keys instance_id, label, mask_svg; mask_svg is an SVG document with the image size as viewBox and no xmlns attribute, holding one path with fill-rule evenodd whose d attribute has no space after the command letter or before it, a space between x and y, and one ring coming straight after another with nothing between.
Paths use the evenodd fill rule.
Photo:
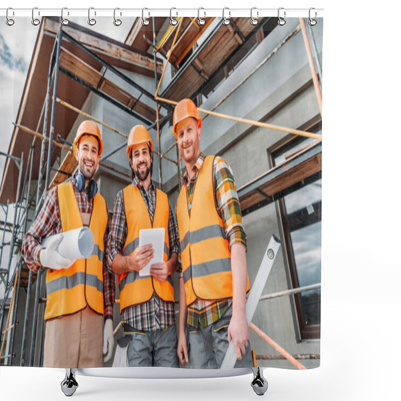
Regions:
<instances>
[{"instance_id":1,"label":"yellow and green plaid sleeve of the red-bearded man","mask_svg":"<svg viewBox=\"0 0 401 401\"><path fill-rule=\"evenodd\" d=\"M216 202L224 224L229 246L235 243L247 248L247 237L242 223L240 201L230 165L217 156L213 165Z\"/></svg>"}]
</instances>

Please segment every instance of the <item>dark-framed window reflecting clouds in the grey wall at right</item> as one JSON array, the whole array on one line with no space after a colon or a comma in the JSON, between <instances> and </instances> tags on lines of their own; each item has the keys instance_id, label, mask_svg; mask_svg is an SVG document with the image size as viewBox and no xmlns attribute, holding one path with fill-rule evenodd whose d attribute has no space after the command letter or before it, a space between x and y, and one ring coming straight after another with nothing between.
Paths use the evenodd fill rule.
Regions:
<instances>
[{"instance_id":1,"label":"dark-framed window reflecting clouds in the grey wall at right","mask_svg":"<svg viewBox=\"0 0 401 401\"><path fill-rule=\"evenodd\" d=\"M321 124L311 132L321 133ZM273 165L284 162L311 145L311 138L295 138L271 152ZM308 178L308 179L307 179ZM320 283L321 174L305 177L307 184L279 199L292 287ZM294 295L301 339L320 338L320 288Z\"/></svg>"}]
</instances>

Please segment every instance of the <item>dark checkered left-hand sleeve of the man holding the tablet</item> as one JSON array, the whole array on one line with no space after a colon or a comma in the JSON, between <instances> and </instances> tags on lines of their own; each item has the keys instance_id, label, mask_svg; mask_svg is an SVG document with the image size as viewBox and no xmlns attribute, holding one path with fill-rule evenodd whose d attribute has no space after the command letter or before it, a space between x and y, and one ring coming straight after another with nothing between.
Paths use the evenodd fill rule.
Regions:
<instances>
[{"instance_id":1,"label":"dark checkered left-hand sleeve of the man holding the tablet","mask_svg":"<svg viewBox=\"0 0 401 401\"><path fill-rule=\"evenodd\" d=\"M125 240L127 239L127 233L128 229L125 219L124 200L121 190L117 193L114 202L113 219L107 240L107 265L110 273L113 273L111 269L113 259L117 254L122 253Z\"/></svg>"}]
</instances>

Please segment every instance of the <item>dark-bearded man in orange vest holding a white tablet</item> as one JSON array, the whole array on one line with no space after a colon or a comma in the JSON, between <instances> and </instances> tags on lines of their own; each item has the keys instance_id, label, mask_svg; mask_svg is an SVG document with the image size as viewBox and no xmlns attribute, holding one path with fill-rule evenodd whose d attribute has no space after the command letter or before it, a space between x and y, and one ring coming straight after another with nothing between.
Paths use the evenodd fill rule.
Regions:
<instances>
[{"instance_id":1,"label":"dark-bearded man in orange vest holding a white tablet","mask_svg":"<svg viewBox=\"0 0 401 401\"><path fill-rule=\"evenodd\" d=\"M174 291L178 238L167 195L151 180L153 142L143 125L128 136L132 183L117 193L108 241L109 270L118 275L124 336L118 340L129 366L178 367ZM139 230L164 228L164 261L139 276L153 258L139 247Z\"/></svg>"}]
</instances>

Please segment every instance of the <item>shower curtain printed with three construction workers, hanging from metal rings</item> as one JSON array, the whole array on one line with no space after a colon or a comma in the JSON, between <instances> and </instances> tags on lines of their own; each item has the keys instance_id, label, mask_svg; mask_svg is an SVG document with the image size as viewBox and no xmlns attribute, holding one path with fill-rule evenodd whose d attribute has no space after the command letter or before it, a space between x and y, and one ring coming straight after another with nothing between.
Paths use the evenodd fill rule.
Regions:
<instances>
[{"instance_id":1,"label":"shower curtain printed with three construction workers, hanging from metal rings","mask_svg":"<svg viewBox=\"0 0 401 401\"><path fill-rule=\"evenodd\" d=\"M220 368L232 338L236 366L318 367L323 19L146 13L0 20L0 365L71 367L46 363L68 346L75 367ZM84 121L100 137L89 159ZM132 144L140 125L150 140ZM147 144L150 189L130 143ZM85 169L93 196L77 189ZM104 225L85 224L88 213ZM69 221L101 230L96 252L75 270L42 267L42 239ZM166 230L166 278L113 268L134 254L142 221ZM244 324L265 254L274 263Z\"/></svg>"}]
</instances>

